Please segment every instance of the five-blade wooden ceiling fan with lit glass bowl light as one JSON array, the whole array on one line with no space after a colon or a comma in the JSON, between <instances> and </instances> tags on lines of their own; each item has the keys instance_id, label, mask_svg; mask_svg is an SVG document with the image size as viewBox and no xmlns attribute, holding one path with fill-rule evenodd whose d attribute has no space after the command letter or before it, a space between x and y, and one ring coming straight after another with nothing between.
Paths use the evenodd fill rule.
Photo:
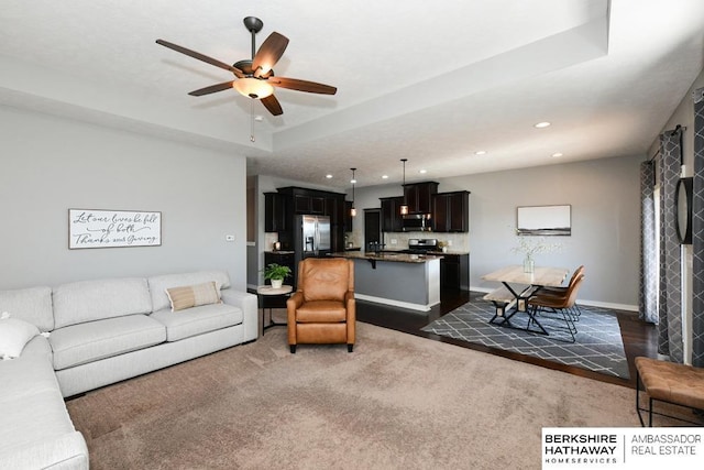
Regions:
<instances>
[{"instance_id":1,"label":"five-blade wooden ceiling fan with lit glass bowl light","mask_svg":"<svg viewBox=\"0 0 704 470\"><path fill-rule=\"evenodd\" d=\"M262 105L264 105L272 114L279 116L284 111L282 110L280 103L274 96L274 87L321 95L334 95L338 91L336 87L331 87L329 85L299 80L297 78L276 77L274 75L273 67L282 55L284 55L284 51L286 51L286 46L288 45L288 39L277 32L273 32L264 43L262 43L260 50L256 51L254 37L256 33L262 31L264 23L258 18L246 17L244 19L244 25L250 33L252 33L252 58L238 61L233 65L228 65L224 62L208 57L207 55L182 47L177 44L169 43L168 41L156 40L156 44L161 44L182 54L197 58L198 61L229 70L237 77L234 80L210 85L208 87L194 90L188 94L191 96L204 96L234 88L245 97L261 100Z\"/></svg>"}]
</instances>

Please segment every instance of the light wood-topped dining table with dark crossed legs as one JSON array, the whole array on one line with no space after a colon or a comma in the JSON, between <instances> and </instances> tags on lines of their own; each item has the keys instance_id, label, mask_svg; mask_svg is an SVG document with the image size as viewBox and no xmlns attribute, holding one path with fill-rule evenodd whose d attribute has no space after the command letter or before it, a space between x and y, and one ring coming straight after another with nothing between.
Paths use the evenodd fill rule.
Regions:
<instances>
[{"instance_id":1,"label":"light wood-topped dining table with dark crossed legs","mask_svg":"<svg viewBox=\"0 0 704 470\"><path fill-rule=\"evenodd\" d=\"M484 296L484 299L492 302L496 307L490 323L548 336L548 330L529 308L528 299L542 287L561 286L569 273L570 270L565 267L551 266L535 266L532 272L525 272L522 265L515 264L484 274L484 281L495 281L503 285ZM512 318L519 313L528 316L525 327L512 323Z\"/></svg>"}]
</instances>

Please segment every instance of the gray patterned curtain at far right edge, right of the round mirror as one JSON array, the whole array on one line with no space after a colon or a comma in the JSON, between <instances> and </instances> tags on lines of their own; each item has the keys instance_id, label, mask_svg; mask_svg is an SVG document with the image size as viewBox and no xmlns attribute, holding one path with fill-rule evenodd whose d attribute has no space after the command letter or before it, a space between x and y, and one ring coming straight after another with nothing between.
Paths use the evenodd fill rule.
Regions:
<instances>
[{"instance_id":1,"label":"gray patterned curtain at far right edge, right of the round mirror","mask_svg":"<svg viewBox=\"0 0 704 470\"><path fill-rule=\"evenodd\" d=\"M692 365L704 367L704 88L694 91Z\"/></svg>"}]
</instances>

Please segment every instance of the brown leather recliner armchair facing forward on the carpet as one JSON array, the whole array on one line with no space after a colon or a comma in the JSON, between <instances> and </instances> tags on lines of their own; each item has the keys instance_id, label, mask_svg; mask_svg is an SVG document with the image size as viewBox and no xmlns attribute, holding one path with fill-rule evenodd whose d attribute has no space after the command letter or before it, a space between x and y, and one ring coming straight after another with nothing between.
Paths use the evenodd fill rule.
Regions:
<instances>
[{"instance_id":1,"label":"brown leather recliner armchair facing forward on the carpet","mask_svg":"<svg viewBox=\"0 0 704 470\"><path fill-rule=\"evenodd\" d=\"M286 300L288 345L348 345L354 348L356 321L354 262L342 258L307 258L298 263L298 287Z\"/></svg>"}]
</instances>

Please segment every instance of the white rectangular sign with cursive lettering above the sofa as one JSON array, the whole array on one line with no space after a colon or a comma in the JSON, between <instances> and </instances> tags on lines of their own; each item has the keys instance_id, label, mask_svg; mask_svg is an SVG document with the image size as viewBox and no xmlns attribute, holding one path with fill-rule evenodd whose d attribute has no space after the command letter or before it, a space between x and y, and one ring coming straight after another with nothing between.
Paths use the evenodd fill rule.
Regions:
<instances>
[{"instance_id":1,"label":"white rectangular sign with cursive lettering above the sofa","mask_svg":"<svg viewBox=\"0 0 704 470\"><path fill-rule=\"evenodd\" d=\"M158 247L162 212L68 209L68 248Z\"/></svg>"}]
</instances>

